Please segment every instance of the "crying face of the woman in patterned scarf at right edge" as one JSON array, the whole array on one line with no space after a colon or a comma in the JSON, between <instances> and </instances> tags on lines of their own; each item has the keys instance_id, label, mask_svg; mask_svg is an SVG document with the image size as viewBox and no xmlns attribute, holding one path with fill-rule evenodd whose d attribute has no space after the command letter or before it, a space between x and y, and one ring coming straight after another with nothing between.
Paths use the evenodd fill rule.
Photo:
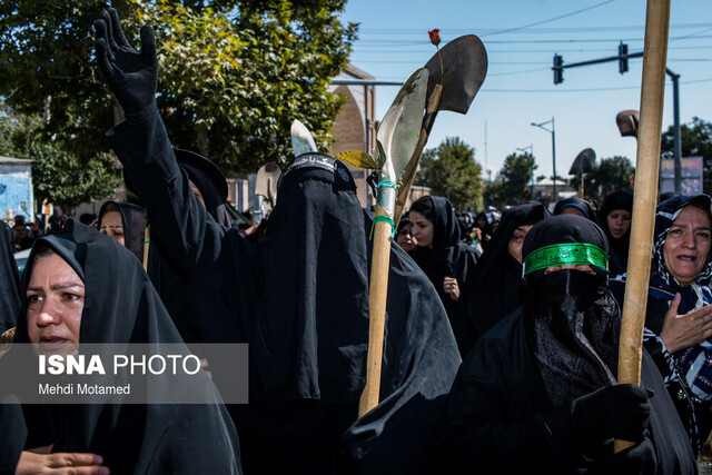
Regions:
<instances>
[{"instance_id":1,"label":"crying face of the woman in patterned scarf at right edge","mask_svg":"<svg viewBox=\"0 0 712 475\"><path fill-rule=\"evenodd\" d=\"M711 244L709 215L700 208L688 206L680 211L665 237L665 267L681 285L692 284L708 264Z\"/></svg>"}]
</instances>

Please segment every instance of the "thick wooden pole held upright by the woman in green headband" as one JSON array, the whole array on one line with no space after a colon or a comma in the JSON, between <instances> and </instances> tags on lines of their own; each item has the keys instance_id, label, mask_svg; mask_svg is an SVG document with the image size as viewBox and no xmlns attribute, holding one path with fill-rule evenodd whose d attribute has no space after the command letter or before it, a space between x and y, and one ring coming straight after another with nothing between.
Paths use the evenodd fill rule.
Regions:
<instances>
[{"instance_id":1,"label":"thick wooden pole held upright by the woman in green headband","mask_svg":"<svg viewBox=\"0 0 712 475\"><path fill-rule=\"evenodd\" d=\"M619 347L619 384L640 386L641 383L643 327L657 201L669 27L670 0L647 0L641 123L637 131L635 192L631 226L631 243L635 243L635 246L631 246L627 264ZM632 445L630 442L615 441L615 452Z\"/></svg>"}]
</instances>

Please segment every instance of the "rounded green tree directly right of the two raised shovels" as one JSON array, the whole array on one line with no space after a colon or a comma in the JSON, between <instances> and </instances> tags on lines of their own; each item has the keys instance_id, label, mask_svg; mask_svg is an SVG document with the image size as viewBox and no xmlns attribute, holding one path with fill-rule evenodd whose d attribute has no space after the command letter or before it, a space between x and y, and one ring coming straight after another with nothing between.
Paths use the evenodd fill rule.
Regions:
<instances>
[{"instance_id":1,"label":"rounded green tree directly right of the two raised shovels","mask_svg":"<svg viewBox=\"0 0 712 475\"><path fill-rule=\"evenodd\" d=\"M444 196L463 210L482 199L482 167L475 161L475 149L458 137L446 138L437 148L425 150L416 184Z\"/></svg>"}]
</instances>

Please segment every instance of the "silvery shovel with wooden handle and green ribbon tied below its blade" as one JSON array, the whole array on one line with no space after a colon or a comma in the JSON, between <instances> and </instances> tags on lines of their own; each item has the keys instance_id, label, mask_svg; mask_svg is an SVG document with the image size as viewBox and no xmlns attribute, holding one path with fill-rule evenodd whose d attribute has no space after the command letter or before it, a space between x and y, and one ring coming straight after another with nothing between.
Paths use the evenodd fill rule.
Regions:
<instances>
[{"instance_id":1,"label":"silvery shovel with wooden handle and green ribbon tied below its blade","mask_svg":"<svg viewBox=\"0 0 712 475\"><path fill-rule=\"evenodd\" d=\"M368 357L366 387L358 404L358 416L378 405L380 367L383 363L384 329L386 326L386 297L390 264L390 238L395 228L393 212L396 182L413 156L423 127L423 109L428 71L415 71L403 85L386 112L376 135L379 170L376 216L374 217L374 250L368 285Z\"/></svg>"}]
</instances>

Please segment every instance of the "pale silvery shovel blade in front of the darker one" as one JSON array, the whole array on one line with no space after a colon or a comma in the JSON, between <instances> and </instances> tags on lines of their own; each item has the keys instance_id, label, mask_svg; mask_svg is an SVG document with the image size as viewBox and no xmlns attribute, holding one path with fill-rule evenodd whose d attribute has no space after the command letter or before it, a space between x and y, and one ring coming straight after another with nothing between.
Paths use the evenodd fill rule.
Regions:
<instances>
[{"instance_id":1,"label":"pale silvery shovel blade in front of the darker one","mask_svg":"<svg viewBox=\"0 0 712 475\"><path fill-rule=\"evenodd\" d=\"M428 71L421 68L403 85L384 116L376 140L379 146L382 172L397 179L415 151L423 126Z\"/></svg>"}]
</instances>

